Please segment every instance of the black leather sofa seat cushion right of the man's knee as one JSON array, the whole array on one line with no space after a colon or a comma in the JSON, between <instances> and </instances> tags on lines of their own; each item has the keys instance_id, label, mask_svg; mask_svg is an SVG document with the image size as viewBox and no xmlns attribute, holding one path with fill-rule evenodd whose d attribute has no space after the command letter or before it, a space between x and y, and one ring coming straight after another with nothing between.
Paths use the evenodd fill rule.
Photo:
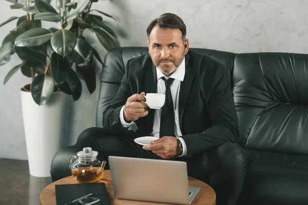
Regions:
<instances>
[{"instance_id":1,"label":"black leather sofa seat cushion right of the man's knee","mask_svg":"<svg viewBox=\"0 0 308 205\"><path fill-rule=\"evenodd\" d=\"M248 164L238 204L307 204L308 169Z\"/></svg>"}]
</instances>

